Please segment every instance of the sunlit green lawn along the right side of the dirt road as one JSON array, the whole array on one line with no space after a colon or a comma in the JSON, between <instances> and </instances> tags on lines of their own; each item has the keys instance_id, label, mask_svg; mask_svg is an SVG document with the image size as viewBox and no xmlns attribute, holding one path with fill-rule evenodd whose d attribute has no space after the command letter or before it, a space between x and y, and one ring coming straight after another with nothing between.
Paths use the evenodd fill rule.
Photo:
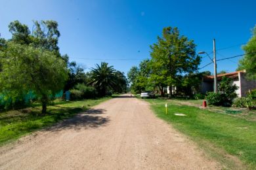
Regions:
<instances>
[{"instance_id":1,"label":"sunlit green lawn along the right side of the dirt road","mask_svg":"<svg viewBox=\"0 0 256 170\"><path fill-rule=\"evenodd\" d=\"M247 168L256 168L255 120L233 116L233 113L228 112L223 114L188 105L177 105L177 102L171 100L146 101L152 104L152 109L158 117L188 135L226 167L236 169L237 157ZM168 114L165 114L165 103L168 103ZM175 113L186 116L176 116ZM227 154L236 157L230 158Z\"/></svg>"}]
</instances>

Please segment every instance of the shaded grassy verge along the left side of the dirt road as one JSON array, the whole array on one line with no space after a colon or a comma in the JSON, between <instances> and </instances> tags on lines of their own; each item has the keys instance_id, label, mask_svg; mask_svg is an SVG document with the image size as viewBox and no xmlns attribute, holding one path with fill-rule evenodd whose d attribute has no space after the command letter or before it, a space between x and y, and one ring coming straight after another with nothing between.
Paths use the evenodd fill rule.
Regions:
<instances>
[{"instance_id":1,"label":"shaded grassy verge along the left side of the dirt road","mask_svg":"<svg viewBox=\"0 0 256 170\"><path fill-rule=\"evenodd\" d=\"M0 146L70 118L110 98L112 97L83 101L55 101L54 105L47 107L48 113L45 116L40 116L41 107L38 104L26 109L0 112Z\"/></svg>"}]
</instances>

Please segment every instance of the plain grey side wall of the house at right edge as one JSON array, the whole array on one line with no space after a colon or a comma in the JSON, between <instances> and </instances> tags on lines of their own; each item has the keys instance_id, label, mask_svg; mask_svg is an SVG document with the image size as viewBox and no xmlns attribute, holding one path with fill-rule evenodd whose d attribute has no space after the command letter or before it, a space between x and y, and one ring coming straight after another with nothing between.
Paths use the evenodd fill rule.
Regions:
<instances>
[{"instance_id":1,"label":"plain grey side wall of the house at right edge","mask_svg":"<svg viewBox=\"0 0 256 170\"><path fill-rule=\"evenodd\" d=\"M240 82L241 82L241 97L245 97L246 93L249 90L253 90L256 88L256 81L247 80L245 78L245 73L240 73Z\"/></svg>"}]
</instances>

